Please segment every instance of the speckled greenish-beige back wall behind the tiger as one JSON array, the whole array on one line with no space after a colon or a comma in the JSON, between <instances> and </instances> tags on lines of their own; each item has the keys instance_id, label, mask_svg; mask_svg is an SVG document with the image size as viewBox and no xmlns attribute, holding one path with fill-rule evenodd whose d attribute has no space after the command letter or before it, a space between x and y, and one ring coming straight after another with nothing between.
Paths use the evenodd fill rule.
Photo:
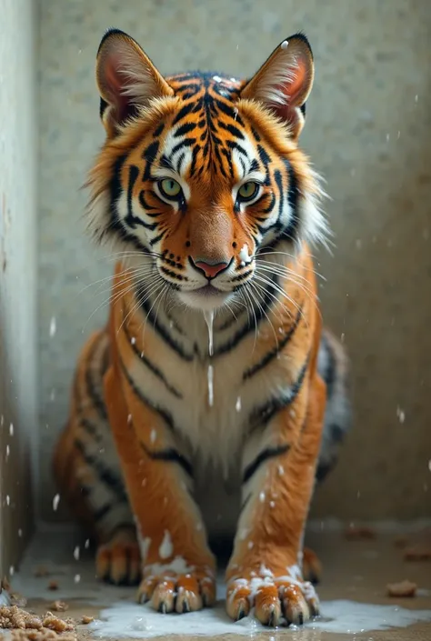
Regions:
<instances>
[{"instance_id":1,"label":"speckled greenish-beige back wall behind the tiger","mask_svg":"<svg viewBox=\"0 0 431 641\"><path fill-rule=\"evenodd\" d=\"M83 235L85 170L103 139L94 62L108 26L162 71L248 75L304 29L316 85L303 135L336 234L320 252L326 322L353 360L356 425L314 516L431 516L431 3L429 0L43 0L40 33L40 433L49 457L75 357L105 321L111 262ZM429 489L429 491L428 491Z\"/></svg>"}]
</instances>

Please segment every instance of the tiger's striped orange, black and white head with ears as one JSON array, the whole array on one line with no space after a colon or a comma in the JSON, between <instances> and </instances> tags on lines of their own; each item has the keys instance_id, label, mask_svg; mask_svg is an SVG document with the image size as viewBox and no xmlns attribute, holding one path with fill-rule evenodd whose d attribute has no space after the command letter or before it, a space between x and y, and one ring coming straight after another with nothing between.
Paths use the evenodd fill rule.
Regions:
<instances>
[{"instance_id":1,"label":"tiger's striped orange, black and white head with ears","mask_svg":"<svg viewBox=\"0 0 431 641\"><path fill-rule=\"evenodd\" d=\"M298 148L313 77L302 34L237 80L164 77L133 38L106 33L96 60L106 140L88 180L97 240L195 308L265 287L267 263L326 231Z\"/></svg>"}]
</instances>

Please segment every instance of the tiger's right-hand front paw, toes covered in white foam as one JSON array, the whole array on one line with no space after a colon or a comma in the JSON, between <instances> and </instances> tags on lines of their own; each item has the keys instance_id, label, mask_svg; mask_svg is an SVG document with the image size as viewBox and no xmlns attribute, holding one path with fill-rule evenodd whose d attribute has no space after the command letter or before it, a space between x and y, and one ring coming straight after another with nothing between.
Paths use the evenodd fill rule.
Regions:
<instances>
[{"instance_id":1,"label":"tiger's right-hand front paw, toes covered in white foam","mask_svg":"<svg viewBox=\"0 0 431 641\"><path fill-rule=\"evenodd\" d=\"M302 626L319 614L319 602L311 583L295 576L274 576L271 572L250 573L233 579L227 586L227 614L235 621L255 608L264 626Z\"/></svg>"}]
</instances>

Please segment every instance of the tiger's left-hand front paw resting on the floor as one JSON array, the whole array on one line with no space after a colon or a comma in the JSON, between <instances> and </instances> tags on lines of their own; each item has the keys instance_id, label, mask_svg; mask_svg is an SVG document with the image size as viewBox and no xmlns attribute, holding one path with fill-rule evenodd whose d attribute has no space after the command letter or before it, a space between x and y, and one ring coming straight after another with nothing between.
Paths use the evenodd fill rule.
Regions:
<instances>
[{"instance_id":1,"label":"tiger's left-hand front paw resting on the floor","mask_svg":"<svg viewBox=\"0 0 431 641\"><path fill-rule=\"evenodd\" d=\"M216 601L216 582L205 573L192 572L146 576L138 590L138 602L150 602L163 614L195 612L213 606Z\"/></svg>"}]
</instances>

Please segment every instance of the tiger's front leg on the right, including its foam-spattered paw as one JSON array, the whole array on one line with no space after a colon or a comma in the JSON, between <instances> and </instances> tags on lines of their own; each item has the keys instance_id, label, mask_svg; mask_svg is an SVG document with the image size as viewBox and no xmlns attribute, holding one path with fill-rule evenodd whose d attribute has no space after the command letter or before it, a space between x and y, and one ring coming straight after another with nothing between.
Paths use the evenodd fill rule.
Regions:
<instances>
[{"instance_id":1,"label":"tiger's front leg on the right, including its foam-spattered paw","mask_svg":"<svg viewBox=\"0 0 431 641\"><path fill-rule=\"evenodd\" d=\"M266 626L277 626L282 617L302 624L318 614L316 592L301 566L325 394L315 376L292 405L256 426L247 440L243 509L226 571L226 609L235 620L252 607Z\"/></svg>"}]
</instances>

